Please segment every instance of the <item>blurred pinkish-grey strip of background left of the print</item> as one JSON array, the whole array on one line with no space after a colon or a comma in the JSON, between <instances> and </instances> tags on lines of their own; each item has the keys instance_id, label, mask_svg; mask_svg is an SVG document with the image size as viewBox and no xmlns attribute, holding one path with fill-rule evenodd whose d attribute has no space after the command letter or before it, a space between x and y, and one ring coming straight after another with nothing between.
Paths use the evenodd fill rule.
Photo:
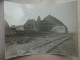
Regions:
<instances>
[{"instance_id":1,"label":"blurred pinkish-grey strip of background left of the print","mask_svg":"<svg viewBox=\"0 0 80 60\"><path fill-rule=\"evenodd\" d=\"M0 1L0 60L4 59L4 16L3 2Z\"/></svg>"}]
</instances>

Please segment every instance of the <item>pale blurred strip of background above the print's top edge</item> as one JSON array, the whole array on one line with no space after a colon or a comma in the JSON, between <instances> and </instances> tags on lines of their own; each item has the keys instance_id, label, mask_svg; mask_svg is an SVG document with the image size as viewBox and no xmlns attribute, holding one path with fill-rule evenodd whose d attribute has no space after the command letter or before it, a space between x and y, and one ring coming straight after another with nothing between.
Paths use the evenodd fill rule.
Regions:
<instances>
[{"instance_id":1,"label":"pale blurred strip of background above the print's top edge","mask_svg":"<svg viewBox=\"0 0 80 60\"><path fill-rule=\"evenodd\" d=\"M65 2L71 2L76 0L5 0L10 2L16 2L16 3L46 3L46 4L57 4L57 3L65 3Z\"/></svg>"}]
</instances>

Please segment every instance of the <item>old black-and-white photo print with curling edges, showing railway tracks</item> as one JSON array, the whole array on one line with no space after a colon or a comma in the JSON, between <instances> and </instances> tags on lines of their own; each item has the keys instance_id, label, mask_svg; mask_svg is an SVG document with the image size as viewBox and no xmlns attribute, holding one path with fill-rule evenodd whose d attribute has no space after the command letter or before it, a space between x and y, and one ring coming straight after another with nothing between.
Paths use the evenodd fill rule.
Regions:
<instances>
[{"instance_id":1,"label":"old black-and-white photo print with curling edges, showing railway tracks","mask_svg":"<svg viewBox=\"0 0 80 60\"><path fill-rule=\"evenodd\" d=\"M77 56L77 2L20 4L4 2L5 58L22 55Z\"/></svg>"}]
</instances>

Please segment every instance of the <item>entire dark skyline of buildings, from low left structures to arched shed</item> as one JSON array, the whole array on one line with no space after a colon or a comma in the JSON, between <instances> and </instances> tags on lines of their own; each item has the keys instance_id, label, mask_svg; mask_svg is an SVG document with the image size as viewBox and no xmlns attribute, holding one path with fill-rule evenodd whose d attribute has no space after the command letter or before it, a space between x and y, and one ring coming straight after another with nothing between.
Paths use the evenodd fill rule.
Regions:
<instances>
[{"instance_id":1,"label":"entire dark skyline of buildings, from low left structures to arched shed","mask_svg":"<svg viewBox=\"0 0 80 60\"><path fill-rule=\"evenodd\" d=\"M57 32L57 33L68 33L68 28L61 21L56 19L55 17L48 15L43 20L41 20L40 16L38 16L37 20L28 19L28 21L24 25L11 27L8 23L5 23L5 31L6 35L17 34L17 33L25 33L25 32Z\"/></svg>"}]
</instances>

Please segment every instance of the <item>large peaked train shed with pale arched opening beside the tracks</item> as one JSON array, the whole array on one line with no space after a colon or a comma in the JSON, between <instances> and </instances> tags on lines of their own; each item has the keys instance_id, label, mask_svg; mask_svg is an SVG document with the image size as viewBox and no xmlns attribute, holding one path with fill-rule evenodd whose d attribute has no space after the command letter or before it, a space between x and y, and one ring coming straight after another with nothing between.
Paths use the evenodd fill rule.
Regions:
<instances>
[{"instance_id":1,"label":"large peaked train shed with pale arched opening beside the tracks","mask_svg":"<svg viewBox=\"0 0 80 60\"><path fill-rule=\"evenodd\" d=\"M41 21L42 31L55 31L57 33L67 33L68 28L55 17L48 15Z\"/></svg>"}]
</instances>

